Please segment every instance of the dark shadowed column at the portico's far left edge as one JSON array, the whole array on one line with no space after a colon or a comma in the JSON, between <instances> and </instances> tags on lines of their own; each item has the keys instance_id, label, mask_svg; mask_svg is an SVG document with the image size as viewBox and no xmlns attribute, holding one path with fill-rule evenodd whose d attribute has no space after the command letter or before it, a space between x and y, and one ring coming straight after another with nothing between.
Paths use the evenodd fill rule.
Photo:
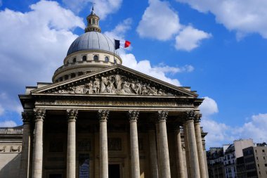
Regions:
<instances>
[{"instance_id":1,"label":"dark shadowed column at the portico's far left edge","mask_svg":"<svg viewBox=\"0 0 267 178\"><path fill-rule=\"evenodd\" d=\"M20 162L20 178L30 176L30 113L22 112L23 136Z\"/></svg>"}]
</instances>

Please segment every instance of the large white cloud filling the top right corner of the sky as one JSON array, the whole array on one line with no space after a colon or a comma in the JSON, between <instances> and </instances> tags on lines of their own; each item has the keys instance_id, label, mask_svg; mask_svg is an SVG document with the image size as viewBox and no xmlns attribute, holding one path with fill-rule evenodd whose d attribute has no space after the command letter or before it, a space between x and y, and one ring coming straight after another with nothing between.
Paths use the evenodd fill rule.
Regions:
<instances>
[{"instance_id":1,"label":"large white cloud filling the top right corner of the sky","mask_svg":"<svg viewBox=\"0 0 267 178\"><path fill-rule=\"evenodd\" d=\"M267 38L267 1L265 0L176 0L190 4L202 13L211 12L216 21L228 30L237 31L237 37L259 33Z\"/></svg>"}]
</instances>

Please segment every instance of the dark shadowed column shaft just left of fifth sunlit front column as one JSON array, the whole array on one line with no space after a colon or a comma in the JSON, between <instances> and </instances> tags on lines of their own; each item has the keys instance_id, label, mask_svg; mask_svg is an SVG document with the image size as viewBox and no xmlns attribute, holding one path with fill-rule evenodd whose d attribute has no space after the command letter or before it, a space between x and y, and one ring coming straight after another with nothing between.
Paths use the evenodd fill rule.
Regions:
<instances>
[{"instance_id":1,"label":"dark shadowed column shaft just left of fifth sunlit front column","mask_svg":"<svg viewBox=\"0 0 267 178\"><path fill-rule=\"evenodd\" d=\"M148 130L149 136L149 151L150 151L150 174L152 178L158 178L158 167L157 167L157 147L156 147L156 138L155 130Z\"/></svg>"}]
</instances>

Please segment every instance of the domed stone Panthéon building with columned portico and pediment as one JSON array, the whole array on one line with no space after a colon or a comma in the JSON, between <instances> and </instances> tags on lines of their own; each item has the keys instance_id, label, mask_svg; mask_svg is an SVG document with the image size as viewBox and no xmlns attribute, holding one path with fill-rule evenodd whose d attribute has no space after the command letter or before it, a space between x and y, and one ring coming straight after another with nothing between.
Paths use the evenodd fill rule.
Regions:
<instances>
[{"instance_id":1,"label":"domed stone Panth\u00e9on building with columned portico and pediment","mask_svg":"<svg viewBox=\"0 0 267 178\"><path fill-rule=\"evenodd\" d=\"M87 21L53 82L19 95L23 132L13 171L20 178L208 177L203 99L124 67L93 10ZM0 140L0 157L10 151L1 148Z\"/></svg>"}]
</instances>

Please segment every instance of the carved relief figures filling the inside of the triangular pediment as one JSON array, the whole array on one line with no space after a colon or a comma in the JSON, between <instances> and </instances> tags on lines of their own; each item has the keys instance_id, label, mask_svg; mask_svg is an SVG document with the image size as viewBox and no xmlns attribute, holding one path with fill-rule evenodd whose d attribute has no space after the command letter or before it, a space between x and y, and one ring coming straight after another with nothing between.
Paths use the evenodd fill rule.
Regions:
<instances>
[{"instance_id":1,"label":"carved relief figures filling the inside of the triangular pediment","mask_svg":"<svg viewBox=\"0 0 267 178\"><path fill-rule=\"evenodd\" d=\"M80 81L56 89L50 89L46 93L53 94L113 94L113 95L145 95L145 96L174 96L184 95L181 92L172 94L166 91L166 87L160 87L148 80L137 76L121 75L119 72L96 75L86 81Z\"/></svg>"}]
</instances>

